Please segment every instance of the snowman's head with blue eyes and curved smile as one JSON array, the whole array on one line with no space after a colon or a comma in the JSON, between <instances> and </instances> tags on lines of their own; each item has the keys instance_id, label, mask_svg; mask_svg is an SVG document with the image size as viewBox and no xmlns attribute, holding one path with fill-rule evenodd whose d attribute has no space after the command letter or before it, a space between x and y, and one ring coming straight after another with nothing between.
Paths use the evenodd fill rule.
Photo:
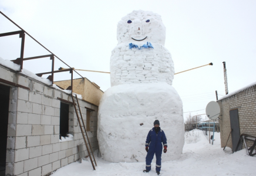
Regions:
<instances>
[{"instance_id":1,"label":"snowman's head with blue eyes and curved smile","mask_svg":"<svg viewBox=\"0 0 256 176\"><path fill-rule=\"evenodd\" d=\"M118 44L127 42L151 42L164 45L166 28L161 16L149 11L133 11L117 25Z\"/></svg>"}]
</instances>

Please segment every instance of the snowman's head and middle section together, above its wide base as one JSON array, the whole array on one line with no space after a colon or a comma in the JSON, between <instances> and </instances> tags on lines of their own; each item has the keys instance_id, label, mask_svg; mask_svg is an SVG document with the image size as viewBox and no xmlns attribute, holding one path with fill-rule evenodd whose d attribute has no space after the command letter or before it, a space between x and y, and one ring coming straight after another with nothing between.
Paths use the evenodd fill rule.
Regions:
<instances>
[{"instance_id":1,"label":"snowman's head and middle section together, above its wide base","mask_svg":"<svg viewBox=\"0 0 256 176\"><path fill-rule=\"evenodd\" d=\"M171 85L174 64L169 50L164 48L165 38L166 28L160 15L133 11L124 16L117 25L118 45L110 59L111 85L152 82ZM129 48L129 43L143 46L147 42L153 48Z\"/></svg>"}]
</instances>

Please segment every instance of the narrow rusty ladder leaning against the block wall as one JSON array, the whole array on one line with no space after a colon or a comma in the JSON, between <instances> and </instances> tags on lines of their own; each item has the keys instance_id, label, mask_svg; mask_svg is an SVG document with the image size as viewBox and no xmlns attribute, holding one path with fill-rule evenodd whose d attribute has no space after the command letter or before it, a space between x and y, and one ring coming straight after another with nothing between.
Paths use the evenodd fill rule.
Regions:
<instances>
[{"instance_id":1,"label":"narrow rusty ladder leaning against the block wall","mask_svg":"<svg viewBox=\"0 0 256 176\"><path fill-rule=\"evenodd\" d=\"M73 101L73 106L75 107L76 117L78 118L78 123L79 123L80 130L81 130L81 133L82 133L82 136L83 136L83 140L85 141L85 146L86 146L88 155L90 157L90 162L92 163L93 170L96 170L95 165L97 166L97 163L96 163L95 157L93 155L92 146L90 145L90 141L89 141L87 131L86 131L86 128L85 128L85 123L83 122L83 117L82 117L82 113L81 113L79 102L78 102L78 96L76 95L76 99L74 99L73 94L71 94L71 97L72 97L72 101ZM79 113L80 113L80 117L79 117L79 114L78 114L78 110L79 110ZM82 124L81 124L80 119L83 122L83 128L82 128ZM87 141L86 141L86 138L85 138L85 134L83 133L83 129L85 130ZM89 144L90 148L88 147L87 144ZM93 158L92 158L92 156L93 156Z\"/></svg>"}]
</instances>

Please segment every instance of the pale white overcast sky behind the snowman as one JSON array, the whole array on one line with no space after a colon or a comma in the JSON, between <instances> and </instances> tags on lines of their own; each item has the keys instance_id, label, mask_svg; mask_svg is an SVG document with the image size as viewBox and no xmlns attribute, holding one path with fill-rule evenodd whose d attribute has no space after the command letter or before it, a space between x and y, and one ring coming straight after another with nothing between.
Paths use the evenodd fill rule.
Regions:
<instances>
[{"instance_id":1,"label":"pale white overcast sky behind the snowman","mask_svg":"<svg viewBox=\"0 0 256 176\"><path fill-rule=\"evenodd\" d=\"M174 76L173 87L183 100L183 111L204 114L207 103L225 94L223 61L228 90L234 92L256 82L256 1L0 1L0 11L76 69L109 72L117 45L117 22L133 10L161 15L166 26L165 47L176 73L213 62L213 66ZM0 33L19 31L0 14ZM0 38L0 57L20 55L18 35ZM26 36L24 57L49 54ZM49 58L29 60L23 67L34 73L51 69ZM55 63L55 70L66 67ZM79 72L105 91L110 76ZM79 76L76 75L76 78ZM58 80L70 79L56 73ZM201 111L197 111L201 110ZM184 113L184 117L188 113Z\"/></svg>"}]
</instances>

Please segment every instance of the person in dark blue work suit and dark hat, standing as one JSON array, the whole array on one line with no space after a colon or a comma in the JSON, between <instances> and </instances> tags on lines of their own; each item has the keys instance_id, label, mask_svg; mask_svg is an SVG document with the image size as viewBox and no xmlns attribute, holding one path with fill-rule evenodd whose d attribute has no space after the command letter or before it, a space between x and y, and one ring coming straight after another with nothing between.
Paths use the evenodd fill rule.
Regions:
<instances>
[{"instance_id":1,"label":"person in dark blue work suit and dark hat, standing","mask_svg":"<svg viewBox=\"0 0 256 176\"><path fill-rule=\"evenodd\" d=\"M146 151L147 151L146 170L143 171L143 172L149 172L151 170L151 161L154 158L154 154L156 154L157 175L160 174L160 170L161 170L161 154L162 154L163 145L164 145L164 153L166 153L167 151L166 134L164 134L164 131L161 130L159 126L160 126L159 120L155 120L154 127L149 131L149 134L147 134L147 140L145 144Z\"/></svg>"}]
</instances>

